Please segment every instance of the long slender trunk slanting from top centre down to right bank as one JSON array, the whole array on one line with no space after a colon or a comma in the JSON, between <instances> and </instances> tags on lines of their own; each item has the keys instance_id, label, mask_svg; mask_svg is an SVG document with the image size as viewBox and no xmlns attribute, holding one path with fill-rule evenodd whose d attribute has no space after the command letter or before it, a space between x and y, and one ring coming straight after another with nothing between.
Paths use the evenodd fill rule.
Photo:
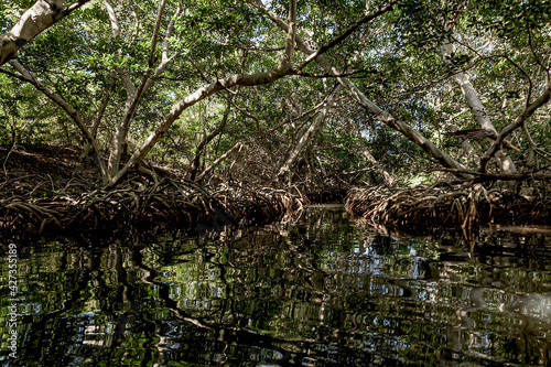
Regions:
<instances>
[{"instance_id":1,"label":"long slender trunk slanting from top centre down to right bank","mask_svg":"<svg viewBox=\"0 0 551 367\"><path fill-rule=\"evenodd\" d=\"M250 0L255 7L257 7L259 10L261 10L263 13L266 13L280 29L283 31L289 30L289 25L281 19L279 18L276 13L272 11L269 11L260 0ZM301 36L296 35L296 45L299 50L306 55L309 55L309 60L311 57L316 56L315 61L322 68L324 68L327 73L333 74L333 75L341 75L339 71L331 65L331 63L325 58L323 55L317 55L314 53L314 51L302 40ZM443 166L445 168L451 168L451 169L456 169L456 170L464 170L463 165L456 162L454 159L452 159L450 155L447 155L445 152L441 151L434 143L432 143L430 140L424 138L421 133L418 131L413 130L408 123L404 121L399 121L397 120L392 115L390 115L388 111L381 109L379 106L367 99L367 97L356 87L350 80L348 80L345 77L337 77L337 80L348 89L353 98L367 111L370 114L375 115L377 119L380 121L385 122L388 125L390 128L398 130L401 132L406 138L409 140L413 141L415 144L421 147L430 156L434 158L436 161L439 161ZM458 176L463 179L472 179L472 175L468 174L463 174L463 173L456 173Z\"/></svg>"}]
</instances>

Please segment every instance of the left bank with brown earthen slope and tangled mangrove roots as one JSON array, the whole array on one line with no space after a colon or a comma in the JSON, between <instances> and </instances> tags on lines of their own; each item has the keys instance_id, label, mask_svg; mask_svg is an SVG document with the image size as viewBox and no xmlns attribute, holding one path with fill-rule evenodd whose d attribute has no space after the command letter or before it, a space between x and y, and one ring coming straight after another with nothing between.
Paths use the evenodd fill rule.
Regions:
<instances>
[{"instance_id":1,"label":"left bank with brown earthen slope and tangled mangrove roots","mask_svg":"<svg viewBox=\"0 0 551 367\"><path fill-rule=\"evenodd\" d=\"M7 152L0 151L0 237L6 239L163 228L219 230L277 220L303 204L295 194L269 187L204 187L184 179L184 171L160 164L151 166L155 179L132 172L107 191L93 165L82 166L73 147L11 151L8 160Z\"/></svg>"}]
</instances>

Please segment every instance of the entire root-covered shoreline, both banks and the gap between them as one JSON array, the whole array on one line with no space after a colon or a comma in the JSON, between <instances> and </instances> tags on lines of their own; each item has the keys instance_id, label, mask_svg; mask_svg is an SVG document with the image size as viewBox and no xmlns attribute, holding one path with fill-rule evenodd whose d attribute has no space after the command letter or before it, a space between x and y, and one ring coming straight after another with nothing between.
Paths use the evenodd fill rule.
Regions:
<instances>
[{"instance_id":1,"label":"entire root-covered shoreline, both banks and the gap between them","mask_svg":"<svg viewBox=\"0 0 551 367\"><path fill-rule=\"evenodd\" d=\"M262 225L312 203L345 203L374 226L412 234L461 231L485 225L549 225L551 184L520 180L514 187L493 182L440 183L414 187L248 187L218 180L204 186L185 170L151 163L155 176L130 172L115 188L101 188L93 160L83 164L77 147L0 148L0 238L48 234L121 231L147 234L177 228L220 230L227 225Z\"/></svg>"}]
</instances>

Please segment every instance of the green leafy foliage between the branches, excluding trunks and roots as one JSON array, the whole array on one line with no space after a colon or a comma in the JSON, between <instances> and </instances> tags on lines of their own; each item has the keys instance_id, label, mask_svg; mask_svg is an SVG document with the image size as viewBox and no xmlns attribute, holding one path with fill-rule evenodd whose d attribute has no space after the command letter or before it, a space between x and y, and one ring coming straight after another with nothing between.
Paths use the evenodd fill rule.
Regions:
<instances>
[{"instance_id":1,"label":"green leafy foliage between the branches, excluding trunks and roots","mask_svg":"<svg viewBox=\"0 0 551 367\"><path fill-rule=\"evenodd\" d=\"M9 30L32 3L2 2L1 29ZM179 3L182 14L173 19ZM120 37L112 36L102 1L91 1L41 33L19 55L19 62L75 108L88 126L102 96L108 94L98 130L98 140L106 152L128 100L120 75L127 75L134 85L151 76L162 60L164 42L168 54L174 58L143 94L132 115L128 136L131 148L141 144L174 105L197 88L229 75L267 72L281 61L285 34L250 3L169 0L150 65L158 1L120 0L112 4L121 28ZM287 1L268 4L287 19ZM369 1L367 11L385 4L385 1ZM299 34L313 48L333 40L366 12L366 2L356 0L307 1L299 2L298 7ZM325 56L336 69L348 73L366 97L462 161L456 139L443 137L442 132L449 131L451 125L457 129L478 126L453 82L453 73L458 68L468 73L491 122L497 130L503 129L545 86L550 13L548 0L403 0L393 11L360 26ZM174 32L164 40L172 21ZM453 45L449 61L442 52L446 42ZM294 64L303 58L296 50ZM14 72L9 65L3 69ZM325 73L315 63L304 72ZM30 85L9 74L0 77L0 143L10 143L15 133L28 142L80 141L80 132L71 118ZM250 151L241 152L238 160L241 164L250 163L258 153L260 163L277 171L318 112L307 111L326 98L332 85L329 78L291 76L270 85L214 95L184 111L152 154L185 165L197 153L201 140L217 128L229 106L228 122L202 153L202 164L213 162L240 141L250 144ZM527 125L542 149L550 147L547 116L549 108L544 106ZM312 169L314 174L323 176L324 171L368 168L357 137L346 122L349 119L361 126L371 154L395 175L409 180L435 164L419 145L363 111L353 99L345 98L331 112L310 150L316 159L305 158L295 170L299 175ZM520 130L511 139L528 149ZM477 153L487 148L483 141L472 143ZM521 159L522 154L515 158ZM304 164L309 160L311 163Z\"/></svg>"}]
</instances>

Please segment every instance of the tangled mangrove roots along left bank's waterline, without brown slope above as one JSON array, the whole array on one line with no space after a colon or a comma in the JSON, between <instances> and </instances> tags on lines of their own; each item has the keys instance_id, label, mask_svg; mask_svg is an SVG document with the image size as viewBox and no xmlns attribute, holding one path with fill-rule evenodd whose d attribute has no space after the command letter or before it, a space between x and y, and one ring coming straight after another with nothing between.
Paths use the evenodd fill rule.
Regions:
<instances>
[{"instance_id":1,"label":"tangled mangrove roots along left bank's waterline, without brown slope above","mask_svg":"<svg viewBox=\"0 0 551 367\"><path fill-rule=\"evenodd\" d=\"M21 238L60 230L190 229L210 223L218 229L216 226L247 220L272 220L298 205L300 199L285 192L225 188L210 193L188 180L164 177L153 184L133 175L104 191L72 181L62 184L50 176L28 176L0 185L0 235Z\"/></svg>"}]
</instances>

